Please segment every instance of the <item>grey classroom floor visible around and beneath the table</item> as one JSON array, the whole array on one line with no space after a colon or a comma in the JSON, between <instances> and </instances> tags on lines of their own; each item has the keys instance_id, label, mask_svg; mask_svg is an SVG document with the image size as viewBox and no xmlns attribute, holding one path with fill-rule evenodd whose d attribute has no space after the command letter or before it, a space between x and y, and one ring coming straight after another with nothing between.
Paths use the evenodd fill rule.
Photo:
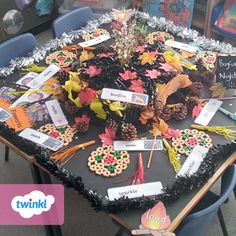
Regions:
<instances>
[{"instance_id":1,"label":"grey classroom floor visible around and beneath the table","mask_svg":"<svg viewBox=\"0 0 236 236\"><path fill-rule=\"evenodd\" d=\"M50 30L37 35L42 45L52 38ZM30 167L26 160L10 151L10 160L4 161L4 146L0 145L0 184L30 184L33 183ZM59 181L52 179L55 183ZM219 183L214 186L219 190ZM236 235L236 201L231 194L227 204L222 206L226 227L229 236ZM108 215L95 212L86 199L80 197L75 190L65 188L65 223L62 226L63 236L114 236L117 227L111 222ZM44 236L43 226L0 226L0 236ZM216 218L206 236L221 236L221 228Z\"/></svg>"}]
</instances>

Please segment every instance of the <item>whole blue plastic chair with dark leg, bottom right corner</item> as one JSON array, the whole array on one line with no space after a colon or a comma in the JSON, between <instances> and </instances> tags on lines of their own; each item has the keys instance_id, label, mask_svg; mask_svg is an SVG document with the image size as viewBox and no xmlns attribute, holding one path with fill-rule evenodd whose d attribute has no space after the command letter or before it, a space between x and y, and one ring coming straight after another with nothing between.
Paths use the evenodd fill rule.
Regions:
<instances>
[{"instance_id":1,"label":"whole blue plastic chair with dark leg, bottom right corner","mask_svg":"<svg viewBox=\"0 0 236 236\"><path fill-rule=\"evenodd\" d=\"M223 235L228 235L220 206L228 199L236 184L236 165L224 174L221 195L208 192L176 230L177 236L202 236L206 233L214 217L218 215Z\"/></svg>"}]
</instances>

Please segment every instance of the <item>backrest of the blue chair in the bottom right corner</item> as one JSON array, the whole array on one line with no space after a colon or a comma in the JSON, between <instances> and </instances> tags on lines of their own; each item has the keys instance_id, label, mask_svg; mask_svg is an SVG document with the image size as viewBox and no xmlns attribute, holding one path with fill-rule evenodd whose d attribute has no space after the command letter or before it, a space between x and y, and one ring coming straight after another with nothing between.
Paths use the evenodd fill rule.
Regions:
<instances>
[{"instance_id":1,"label":"backrest of the blue chair in the bottom right corner","mask_svg":"<svg viewBox=\"0 0 236 236\"><path fill-rule=\"evenodd\" d=\"M221 196L207 208L187 216L178 229L176 233L177 236L202 236L206 233L209 225L217 215L219 207L225 202L234 189L236 184L236 165L229 167L224 177L225 185L222 189Z\"/></svg>"}]
</instances>

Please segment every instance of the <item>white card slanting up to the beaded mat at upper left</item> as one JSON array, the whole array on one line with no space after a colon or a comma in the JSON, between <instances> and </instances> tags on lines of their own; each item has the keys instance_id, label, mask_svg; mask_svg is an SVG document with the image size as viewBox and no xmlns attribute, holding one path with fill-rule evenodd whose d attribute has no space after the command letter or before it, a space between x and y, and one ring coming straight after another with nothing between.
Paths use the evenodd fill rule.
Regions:
<instances>
[{"instance_id":1,"label":"white card slanting up to the beaded mat at upper left","mask_svg":"<svg viewBox=\"0 0 236 236\"><path fill-rule=\"evenodd\" d=\"M55 75L61 68L52 64L48 66L43 72L41 72L35 79L27 83L27 86L31 89L36 89L41 86L45 81Z\"/></svg>"}]
</instances>

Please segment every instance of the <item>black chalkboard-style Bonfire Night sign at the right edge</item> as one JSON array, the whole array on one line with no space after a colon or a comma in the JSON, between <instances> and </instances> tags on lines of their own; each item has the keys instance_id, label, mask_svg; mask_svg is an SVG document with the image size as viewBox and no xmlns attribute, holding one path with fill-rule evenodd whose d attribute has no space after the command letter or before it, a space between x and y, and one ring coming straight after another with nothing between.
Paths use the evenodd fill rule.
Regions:
<instances>
[{"instance_id":1,"label":"black chalkboard-style Bonfire Night sign at the right edge","mask_svg":"<svg viewBox=\"0 0 236 236\"><path fill-rule=\"evenodd\" d=\"M217 57L216 82L226 88L236 88L236 55Z\"/></svg>"}]
</instances>

